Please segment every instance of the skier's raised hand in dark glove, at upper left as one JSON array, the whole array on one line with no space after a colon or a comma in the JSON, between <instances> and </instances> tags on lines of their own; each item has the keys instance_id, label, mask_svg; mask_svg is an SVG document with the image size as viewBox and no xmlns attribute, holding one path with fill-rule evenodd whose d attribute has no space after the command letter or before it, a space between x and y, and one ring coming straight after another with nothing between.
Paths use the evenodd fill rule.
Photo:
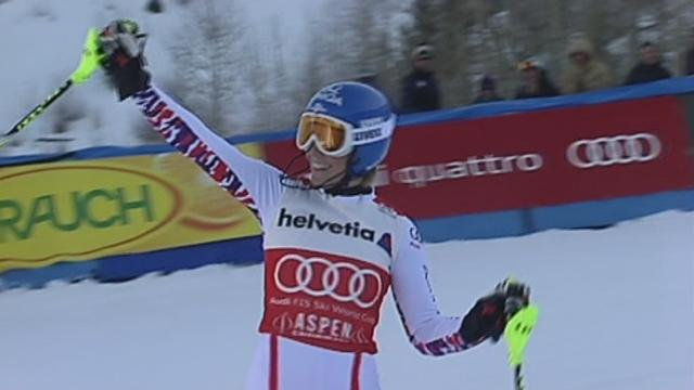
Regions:
<instances>
[{"instance_id":1,"label":"skier's raised hand in dark glove, at upper left","mask_svg":"<svg viewBox=\"0 0 694 390\"><path fill-rule=\"evenodd\" d=\"M102 67L118 90L120 100L145 90L150 74L144 69L145 35L129 20L111 22L99 35Z\"/></svg>"}]
</instances>

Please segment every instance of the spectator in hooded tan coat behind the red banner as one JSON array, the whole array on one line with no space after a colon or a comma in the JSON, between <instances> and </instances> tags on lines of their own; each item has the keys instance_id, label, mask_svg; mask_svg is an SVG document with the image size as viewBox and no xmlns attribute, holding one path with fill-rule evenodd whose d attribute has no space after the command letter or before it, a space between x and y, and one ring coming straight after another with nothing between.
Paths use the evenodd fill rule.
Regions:
<instances>
[{"instance_id":1,"label":"spectator in hooded tan coat behind the red banner","mask_svg":"<svg viewBox=\"0 0 694 390\"><path fill-rule=\"evenodd\" d=\"M595 57L593 46L586 38L574 38L568 46L569 66L562 75L562 93L579 93L609 88L612 72Z\"/></svg>"}]
</instances>

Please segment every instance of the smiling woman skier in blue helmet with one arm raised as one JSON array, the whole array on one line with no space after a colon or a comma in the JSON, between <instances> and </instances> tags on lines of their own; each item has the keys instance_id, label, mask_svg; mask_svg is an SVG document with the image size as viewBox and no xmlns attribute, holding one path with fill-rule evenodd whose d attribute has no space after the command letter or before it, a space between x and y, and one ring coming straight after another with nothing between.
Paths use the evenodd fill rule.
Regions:
<instances>
[{"instance_id":1,"label":"smiling woman skier in blue helmet with one arm raised","mask_svg":"<svg viewBox=\"0 0 694 390\"><path fill-rule=\"evenodd\" d=\"M393 290L410 341L423 354L498 340L528 304L528 288L504 281L464 317L438 311L416 227L375 200L371 185L396 127L377 90L336 82L300 116L296 145L307 180L240 153L151 82L138 26L116 21L100 35L102 64L120 100L258 218L265 234L265 304L247 389L378 389L374 339Z\"/></svg>"}]
</instances>

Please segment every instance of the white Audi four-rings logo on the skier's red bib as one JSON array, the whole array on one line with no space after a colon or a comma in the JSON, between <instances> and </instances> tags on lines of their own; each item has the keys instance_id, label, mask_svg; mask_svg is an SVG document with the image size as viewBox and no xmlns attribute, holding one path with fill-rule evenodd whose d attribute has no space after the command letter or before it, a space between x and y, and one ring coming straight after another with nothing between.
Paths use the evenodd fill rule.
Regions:
<instances>
[{"instance_id":1,"label":"white Audi four-rings logo on the skier's red bib","mask_svg":"<svg viewBox=\"0 0 694 390\"><path fill-rule=\"evenodd\" d=\"M376 271L293 253L278 261L274 284L286 294L331 297L338 302L355 302L362 309L373 307L383 292L383 282Z\"/></svg>"}]
</instances>

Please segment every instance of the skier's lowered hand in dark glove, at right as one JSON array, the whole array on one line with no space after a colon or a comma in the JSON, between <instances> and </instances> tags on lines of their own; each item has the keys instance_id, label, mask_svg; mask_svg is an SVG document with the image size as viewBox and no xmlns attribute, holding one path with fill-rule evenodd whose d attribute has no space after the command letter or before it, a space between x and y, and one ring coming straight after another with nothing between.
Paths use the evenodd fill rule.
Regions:
<instances>
[{"instance_id":1,"label":"skier's lowered hand in dark glove, at right","mask_svg":"<svg viewBox=\"0 0 694 390\"><path fill-rule=\"evenodd\" d=\"M499 341L506 322L528 306L530 288L512 278L499 283L493 291L481 297L465 314L460 334L466 343L479 343L487 338Z\"/></svg>"}]
</instances>

